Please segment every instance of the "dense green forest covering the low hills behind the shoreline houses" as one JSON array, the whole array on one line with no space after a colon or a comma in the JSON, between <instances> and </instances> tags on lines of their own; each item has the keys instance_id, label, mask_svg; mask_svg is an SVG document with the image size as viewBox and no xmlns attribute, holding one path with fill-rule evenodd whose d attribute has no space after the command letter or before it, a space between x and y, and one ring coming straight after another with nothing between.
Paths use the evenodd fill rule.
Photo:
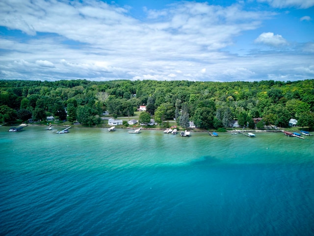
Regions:
<instances>
[{"instance_id":1,"label":"dense green forest covering the low hills behind the shoreline houses","mask_svg":"<svg viewBox=\"0 0 314 236\"><path fill-rule=\"evenodd\" d=\"M55 82L0 80L0 122L60 120L96 125L107 111L112 117L133 116L140 105L147 111L142 122L154 118L159 124L176 119L188 127L228 128L234 120L241 126L262 129L287 127L290 118L299 126L314 128L314 80L280 82L128 81ZM255 124L253 118L262 118Z\"/></svg>"}]
</instances>

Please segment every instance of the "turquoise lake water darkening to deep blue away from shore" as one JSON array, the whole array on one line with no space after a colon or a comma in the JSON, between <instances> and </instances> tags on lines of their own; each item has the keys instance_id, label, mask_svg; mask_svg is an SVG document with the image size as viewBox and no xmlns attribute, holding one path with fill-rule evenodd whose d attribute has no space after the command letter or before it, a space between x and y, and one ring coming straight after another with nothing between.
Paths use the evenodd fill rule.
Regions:
<instances>
[{"instance_id":1,"label":"turquoise lake water darkening to deep blue away from shore","mask_svg":"<svg viewBox=\"0 0 314 236\"><path fill-rule=\"evenodd\" d=\"M0 235L314 234L314 136L7 128Z\"/></svg>"}]
</instances>

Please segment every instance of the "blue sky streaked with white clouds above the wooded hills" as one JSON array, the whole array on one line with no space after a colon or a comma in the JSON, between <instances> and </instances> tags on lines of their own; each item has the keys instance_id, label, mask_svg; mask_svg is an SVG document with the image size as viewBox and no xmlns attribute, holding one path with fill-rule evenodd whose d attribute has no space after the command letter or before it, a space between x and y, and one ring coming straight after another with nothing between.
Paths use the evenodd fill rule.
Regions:
<instances>
[{"instance_id":1,"label":"blue sky streaked with white clouds above the wooded hills","mask_svg":"<svg viewBox=\"0 0 314 236\"><path fill-rule=\"evenodd\" d=\"M0 79L314 79L314 0L0 0Z\"/></svg>"}]
</instances>

